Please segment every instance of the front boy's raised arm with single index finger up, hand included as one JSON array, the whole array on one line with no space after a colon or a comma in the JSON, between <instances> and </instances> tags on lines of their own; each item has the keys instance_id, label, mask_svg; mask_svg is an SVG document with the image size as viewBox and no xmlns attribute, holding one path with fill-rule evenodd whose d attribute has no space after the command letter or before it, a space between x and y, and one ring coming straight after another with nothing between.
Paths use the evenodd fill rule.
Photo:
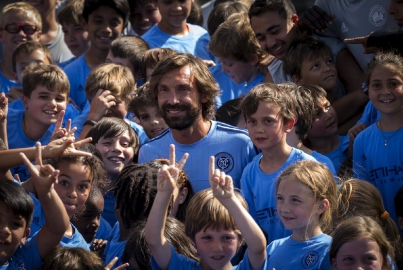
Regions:
<instances>
[{"instance_id":1,"label":"front boy's raised arm with single index finger up, hand included","mask_svg":"<svg viewBox=\"0 0 403 270\"><path fill-rule=\"evenodd\" d=\"M214 169L214 156L210 157L209 181L214 197L228 209L245 238L251 269L262 269L266 259L266 238L252 216L236 198L231 176Z\"/></svg>"}]
</instances>

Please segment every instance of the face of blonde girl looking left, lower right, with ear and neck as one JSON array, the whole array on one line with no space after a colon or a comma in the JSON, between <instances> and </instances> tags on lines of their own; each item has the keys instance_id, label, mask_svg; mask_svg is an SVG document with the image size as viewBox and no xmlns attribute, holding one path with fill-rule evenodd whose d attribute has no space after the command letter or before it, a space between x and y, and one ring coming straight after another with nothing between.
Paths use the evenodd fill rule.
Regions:
<instances>
[{"instance_id":1,"label":"face of blonde girl looking left, lower right, with ear and neck","mask_svg":"<svg viewBox=\"0 0 403 270\"><path fill-rule=\"evenodd\" d=\"M326 209L312 196L312 190L300 181L286 177L277 189L277 213L293 239L305 239L321 233L319 216ZM318 231L319 230L319 231Z\"/></svg>"}]
</instances>

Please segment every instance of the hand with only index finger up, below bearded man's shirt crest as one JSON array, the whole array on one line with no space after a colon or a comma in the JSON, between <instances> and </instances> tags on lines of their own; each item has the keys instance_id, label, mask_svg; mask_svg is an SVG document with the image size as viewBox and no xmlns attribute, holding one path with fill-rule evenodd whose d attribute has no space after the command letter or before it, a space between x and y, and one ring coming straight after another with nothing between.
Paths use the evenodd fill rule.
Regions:
<instances>
[{"instance_id":1,"label":"hand with only index finger up, below bearded man's shirt crest","mask_svg":"<svg viewBox=\"0 0 403 270\"><path fill-rule=\"evenodd\" d=\"M234 196L234 182L230 175L225 172L215 169L214 156L210 157L209 163L209 182L213 191L214 197L219 201L231 199Z\"/></svg>"}]
</instances>

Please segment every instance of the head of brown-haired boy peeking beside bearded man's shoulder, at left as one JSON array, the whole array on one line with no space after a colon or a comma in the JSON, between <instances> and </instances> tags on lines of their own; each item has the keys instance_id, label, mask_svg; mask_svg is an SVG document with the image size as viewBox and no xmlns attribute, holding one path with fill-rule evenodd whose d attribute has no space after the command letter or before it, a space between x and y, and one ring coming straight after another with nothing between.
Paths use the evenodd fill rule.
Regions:
<instances>
[{"instance_id":1,"label":"head of brown-haired boy peeking beside bearded man's shoulder, at left","mask_svg":"<svg viewBox=\"0 0 403 270\"><path fill-rule=\"evenodd\" d=\"M140 120L141 126L150 139L168 128L167 123L158 111L158 107L151 100L150 83L148 82L137 89L130 101L128 110Z\"/></svg>"}]
</instances>

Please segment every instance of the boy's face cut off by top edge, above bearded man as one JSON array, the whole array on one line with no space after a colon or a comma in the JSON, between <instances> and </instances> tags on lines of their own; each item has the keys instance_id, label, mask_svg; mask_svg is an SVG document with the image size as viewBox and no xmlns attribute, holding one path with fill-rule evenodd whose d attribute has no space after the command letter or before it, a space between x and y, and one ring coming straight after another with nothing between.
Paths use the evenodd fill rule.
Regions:
<instances>
[{"instance_id":1,"label":"boy's face cut off by top edge, above bearded man","mask_svg":"<svg viewBox=\"0 0 403 270\"><path fill-rule=\"evenodd\" d=\"M190 15L192 0L157 0L161 24L183 27Z\"/></svg>"}]
</instances>

